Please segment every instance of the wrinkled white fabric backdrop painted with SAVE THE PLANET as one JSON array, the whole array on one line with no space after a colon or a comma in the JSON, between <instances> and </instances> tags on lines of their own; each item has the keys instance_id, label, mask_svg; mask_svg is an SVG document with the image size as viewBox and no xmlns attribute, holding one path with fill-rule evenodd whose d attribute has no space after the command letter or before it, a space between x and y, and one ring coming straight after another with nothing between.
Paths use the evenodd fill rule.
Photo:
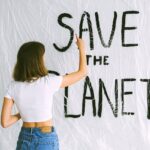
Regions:
<instances>
[{"instance_id":1,"label":"wrinkled white fabric backdrop painted with SAVE THE PLANET","mask_svg":"<svg viewBox=\"0 0 150 150\"><path fill-rule=\"evenodd\" d=\"M61 150L149 150L150 1L0 0L0 98L27 41L45 45L45 63L78 70L74 33L86 43L88 75L54 95ZM12 114L17 113L14 105ZM0 127L0 149L14 150L22 120Z\"/></svg>"}]
</instances>

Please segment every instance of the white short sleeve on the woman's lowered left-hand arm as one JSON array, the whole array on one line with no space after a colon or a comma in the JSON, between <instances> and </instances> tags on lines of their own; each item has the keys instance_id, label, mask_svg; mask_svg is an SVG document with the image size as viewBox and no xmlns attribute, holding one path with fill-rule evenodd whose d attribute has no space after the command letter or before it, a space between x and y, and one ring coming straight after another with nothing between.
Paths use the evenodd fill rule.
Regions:
<instances>
[{"instance_id":1,"label":"white short sleeve on the woman's lowered left-hand arm","mask_svg":"<svg viewBox=\"0 0 150 150\"><path fill-rule=\"evenodd\" d=\"M8 98L8 99L14 99L13 97L13 81L11 81L8 85L7 88L5 90L5 94L4 97Z\"/></svg>"}]
</instances>

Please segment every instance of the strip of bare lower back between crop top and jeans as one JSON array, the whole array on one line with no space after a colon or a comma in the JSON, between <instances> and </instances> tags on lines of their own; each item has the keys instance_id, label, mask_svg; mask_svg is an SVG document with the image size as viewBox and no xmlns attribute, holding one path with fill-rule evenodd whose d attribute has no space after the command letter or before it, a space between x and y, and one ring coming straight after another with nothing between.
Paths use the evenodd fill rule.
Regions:
<instances>
[{"instance_id":1,"label":"strip of bare lower back between crop top and jeans","mask_svg":"<svg viewBox=\"0 0 150 150\"><path fill-rule=\"evenodd\" d=\"M23 127L44 127L44 126L53 126L52 119L42 121L42 122L23 122Z\"/></svg>"}]
</instances>

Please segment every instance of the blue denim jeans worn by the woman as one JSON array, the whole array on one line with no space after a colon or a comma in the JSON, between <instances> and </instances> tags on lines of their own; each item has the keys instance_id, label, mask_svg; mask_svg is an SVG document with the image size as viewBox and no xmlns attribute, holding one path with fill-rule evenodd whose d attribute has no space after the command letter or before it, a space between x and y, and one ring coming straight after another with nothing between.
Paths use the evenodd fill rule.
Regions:
<instances>
[{"instance_id":1,"label":"blue denim jeans worn by the woman","mask_svg":"<svg viewBox=\"0 0 150 150\"><path fill-rule=\"evenodd\" d=\"M53 126L51 132L42 132L40 128L21 127L16 150L59 150L59 140Z\"/></svg>"}]
</instances>

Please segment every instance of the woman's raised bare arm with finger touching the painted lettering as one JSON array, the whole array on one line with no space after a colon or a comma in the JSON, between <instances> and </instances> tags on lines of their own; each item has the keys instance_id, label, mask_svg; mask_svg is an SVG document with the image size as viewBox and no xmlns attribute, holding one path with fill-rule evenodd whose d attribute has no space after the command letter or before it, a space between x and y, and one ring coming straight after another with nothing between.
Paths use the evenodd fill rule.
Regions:
<instances>
[{"instance_id":1,"label":"woman's raised bare arm with finger touching the painted lettering","mask_svg":"<svg viewBox=\"0 0 150 150\"><path fill-rule=\"evenodd\" d=\"M60 88L64 88L66 86L74 84L75 82L81 80L83 77L87 76L88 73L84 41L81 38L78 38L77 36L76 39L76 44L79 49L79 69L70 74L63 75Z\"/></svg>"}]
</instances>

